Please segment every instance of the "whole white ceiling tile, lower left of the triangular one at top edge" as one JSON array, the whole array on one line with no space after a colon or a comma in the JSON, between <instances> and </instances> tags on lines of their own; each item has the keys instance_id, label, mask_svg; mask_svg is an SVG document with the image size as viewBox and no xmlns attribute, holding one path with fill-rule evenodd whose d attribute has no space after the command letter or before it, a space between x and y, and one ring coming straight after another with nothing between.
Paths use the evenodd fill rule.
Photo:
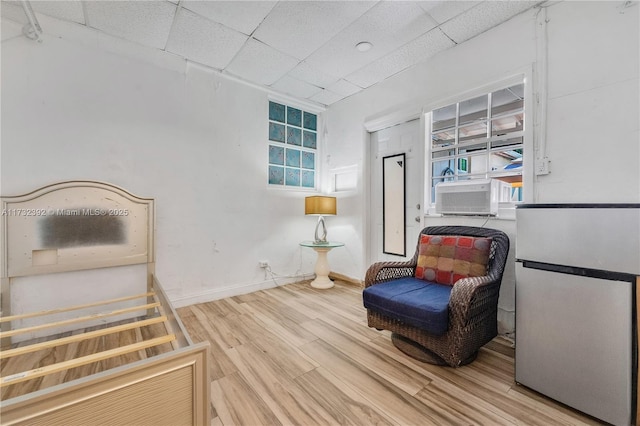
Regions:
<instances>
[{"instance_id":1,"label":"whole white ceiling tile, lower left of the triangular one at top edge","mask_svg":"<svg viewBox=\"0 0 640 426\"><path fill-rule=\"evenodd\" d=\"M248 38L229 27L180 9L166 50L195 62L223 69Z\"/></svg>"}]
</instances>

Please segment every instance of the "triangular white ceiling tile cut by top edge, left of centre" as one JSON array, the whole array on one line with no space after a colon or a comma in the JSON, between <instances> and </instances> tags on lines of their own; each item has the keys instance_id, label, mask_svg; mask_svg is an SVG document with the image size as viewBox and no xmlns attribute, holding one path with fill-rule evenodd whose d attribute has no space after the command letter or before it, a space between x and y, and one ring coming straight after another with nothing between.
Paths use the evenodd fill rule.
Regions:
<instances>
[{"instance_id":1,"label":"triangular white ceiling tile cut by top edge, left of centre","mask_svg":"<svg viewBox=\"0 0 640 426\"><path fill-rule=\"evenodd\" d=\"M201 1L183 0L180 5L244 34L251 35L275 1Z\"/></svg>"}]
</instances>

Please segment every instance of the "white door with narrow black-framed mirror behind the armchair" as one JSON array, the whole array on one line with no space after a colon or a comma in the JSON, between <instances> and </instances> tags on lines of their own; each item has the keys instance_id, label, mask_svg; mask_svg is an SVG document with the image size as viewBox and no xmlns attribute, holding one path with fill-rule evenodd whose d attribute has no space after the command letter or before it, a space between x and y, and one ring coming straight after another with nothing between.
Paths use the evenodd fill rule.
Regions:
<instances>
[{"instance_id":1,"label":"white door with narrow black-framed mirror behind the armchair","mask_svg":"<svg viewBox=\"0 0 640 426\"><path fill-rule=\"evenodd\" d=\"M371 133L369 263L402 261L415 253L418 234L422 230L424 197L424 154L419 119ZM405 256L384 251L383 159L404 154L405 159ZM394 197L402 199L402 197Z\"/></svg>"}]
</instances>

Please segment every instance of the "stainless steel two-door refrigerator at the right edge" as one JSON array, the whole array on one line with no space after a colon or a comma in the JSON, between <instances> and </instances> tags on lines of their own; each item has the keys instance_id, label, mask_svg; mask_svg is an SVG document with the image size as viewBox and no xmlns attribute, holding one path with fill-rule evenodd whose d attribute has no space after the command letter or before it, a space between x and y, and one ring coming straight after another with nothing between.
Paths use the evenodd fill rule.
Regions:
<instances>
[{"instance_id":1,"label":"stainless steel two-door refrigerator at the right edge","mask_svg":"<svg viewBox=\"0 0 640 426\"><path fill-rule=\"evenodd\" d=\"M640 204L528 204L516 221L516 382L634 424Z\"/></svg>"}]
</instances>

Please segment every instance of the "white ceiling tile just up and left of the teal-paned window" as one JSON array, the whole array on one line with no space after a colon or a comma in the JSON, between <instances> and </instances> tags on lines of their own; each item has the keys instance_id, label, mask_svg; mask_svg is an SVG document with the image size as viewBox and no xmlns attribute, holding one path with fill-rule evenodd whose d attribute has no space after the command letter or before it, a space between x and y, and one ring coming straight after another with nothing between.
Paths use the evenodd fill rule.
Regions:
<instances>
[{"instance_id":1,"label":"white ceiling tile just up and left of the teal-paned window","mask_svg":"<svg viewBox=\"0 0 640 426\"><path fill-rule=\"evenodd\" d=\"M226 70L246 80L270 86L296 65L297 59L249 38Z\"/></svg>"}]
</instances>

